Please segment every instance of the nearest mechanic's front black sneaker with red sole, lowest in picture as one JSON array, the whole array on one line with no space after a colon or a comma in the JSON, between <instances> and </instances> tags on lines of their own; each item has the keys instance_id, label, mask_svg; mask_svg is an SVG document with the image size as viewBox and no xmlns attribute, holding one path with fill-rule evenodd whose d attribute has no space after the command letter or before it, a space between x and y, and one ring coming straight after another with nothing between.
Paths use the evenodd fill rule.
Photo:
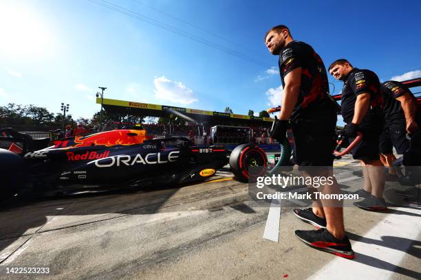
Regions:
<instances>
[{"instance_id":1,"label":"nearest mechanic's front black sneaker with red sole, lowest in picture","mask_svg":"<svg viewBox=\"0 0 421 280\"><path fill-rule=\"evenodd\" d=\"M355 257L347 236L343 240L337 240L327 229L295 231L295 235L299 240L317 250L323 250L339 257L345 257L345 259L354 259Z\"/></svg>"}]
</instances>

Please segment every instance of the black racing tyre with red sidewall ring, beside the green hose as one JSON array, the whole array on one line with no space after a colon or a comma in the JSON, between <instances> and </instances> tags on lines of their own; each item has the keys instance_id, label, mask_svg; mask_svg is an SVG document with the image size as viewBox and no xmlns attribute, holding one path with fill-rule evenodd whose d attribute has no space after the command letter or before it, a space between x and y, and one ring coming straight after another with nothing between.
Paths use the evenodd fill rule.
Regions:
<instances>
[{"instance_id":1,"label":"black racing tyre with red sidewall ring, beside the green hose","mask_svg":"<svg viewBox=\"0 0 421 280\"><path fill-rule=\"evenodd\" d=\"M242 144L230 154L231 172L242 182L254 182L264 176L268 168L266 153L255 144Z\"/></svg>"}]
</instances>

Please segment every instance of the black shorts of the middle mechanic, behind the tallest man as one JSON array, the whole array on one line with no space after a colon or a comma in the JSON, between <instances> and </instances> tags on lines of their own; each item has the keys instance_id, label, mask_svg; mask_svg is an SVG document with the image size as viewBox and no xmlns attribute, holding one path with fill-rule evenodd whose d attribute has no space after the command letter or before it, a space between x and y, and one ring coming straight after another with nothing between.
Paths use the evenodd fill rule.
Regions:
<instances>
[{"instance_id":1,"label":"black shorts of the middle mechanic, behind the tallest man","mask_svg":"<svg viewBox=\"0 0 421 280\"><path fill-rule=\"evenodd\" d=\"M380 150L378 148L380 133L369 130L363 130L361 133L363 133L363 140L351 150L352 157L362 161L380 160ZM352 143L352 141L354 141L354 138L349 139L349 143Z\"/></svg>"}]
</instances>

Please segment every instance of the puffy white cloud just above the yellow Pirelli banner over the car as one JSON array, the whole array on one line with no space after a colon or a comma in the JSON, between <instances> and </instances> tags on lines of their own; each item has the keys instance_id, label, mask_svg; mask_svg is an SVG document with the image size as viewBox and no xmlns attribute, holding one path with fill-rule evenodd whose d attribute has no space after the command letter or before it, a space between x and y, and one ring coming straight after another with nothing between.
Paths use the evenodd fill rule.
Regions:
<instances>
[{"instance_id":1,"label":"puffy white cloud just above the yellow Pirelli banner over the car","mask_svg":"<svg viewBox=\"0 0 421 280\"><path fill-rule=\"evenodd\" d=\"M171 81L165 76L155 77L153 84L155 84L155 97L160 100L169 100L184 105L199 101L191 89L181 82Z\"/></svg>"}]
</instances>

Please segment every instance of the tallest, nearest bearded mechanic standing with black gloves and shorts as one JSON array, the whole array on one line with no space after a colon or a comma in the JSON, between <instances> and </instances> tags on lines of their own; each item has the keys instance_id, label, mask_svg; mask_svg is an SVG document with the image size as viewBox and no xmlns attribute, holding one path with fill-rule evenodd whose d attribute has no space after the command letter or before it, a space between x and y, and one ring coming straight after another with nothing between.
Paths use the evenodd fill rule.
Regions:
<instances>
[{"instance_id":1,"label":"tallest, nearest bearded mechanic standing with black gloves and shorts","mask_svg":"<svg viewBox=\"0 0 421 280\"><path fill-rule=\"evenodd\" d=\"M265 35L265 44L270 53L279 55L283 85L281 113L270 137L283 140L290 120L295 163L301 170L305 167L306 174L310 176L333 177L336 104L329 95L323 61L310 45L293 40L285 25L272 27ZM311 167L317 167L317 170L310 170ZM341 191L336 180L320 189L323 194L339 194ZM321 229L295 231L296 236L313 248L347 259L354 258L354 251L345 235L343 208L332 207L327 200L314 200L312 206L294 209L294 214L303 222Z\"/></svg>"}]
</instances>

